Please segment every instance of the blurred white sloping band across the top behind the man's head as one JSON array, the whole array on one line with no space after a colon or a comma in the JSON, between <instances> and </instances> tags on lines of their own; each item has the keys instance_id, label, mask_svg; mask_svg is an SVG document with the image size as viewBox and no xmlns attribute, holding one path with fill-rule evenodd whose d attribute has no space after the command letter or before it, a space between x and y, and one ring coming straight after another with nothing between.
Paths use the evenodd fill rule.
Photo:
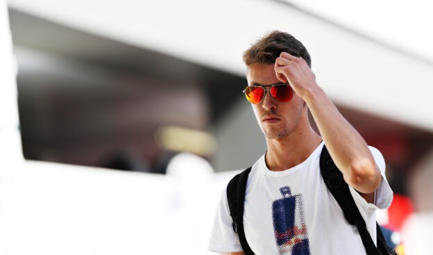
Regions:
<instances>
[{"instance_id":1,"label":"blurred white sloping band across the top behind the man's head","mask_svg":"<svg viewBox=\"0 0 433 255\"><path fill-rule=\"evenodd\" d=\"M309 2L301 6L316 5ZM384 16L393 9L393 3L387 3L391 6L380 12L382 19L392 18ZM380 7L372 4L374 7L368 10ZM409 56L403 53L408 49L396 50L401 49L401 44L393 44L392 49L282 1L8 0L8 6L81 31L239 75L244 75L241 54L251 42L266 31L289 31L309 49L319 84L334 101L433 131L433 118L420 110L433 108L430 100L433 54L425 54L425 58ZM394 16L407 23L406 15L417 14L416 4L405 7L405 13ZM338 13L343 11L340 6L335 8ZM366 22L369 13L364 15L362 22ZM431 20L427 19L430 16L423 15L425 19L413 24L410 31L429 36L425 31L430 30ZM410 40L413 32L408 29L398 30L396 36L409 36ZM377 38L374 34L371 37Z\"/></svg>"}]
</instances>

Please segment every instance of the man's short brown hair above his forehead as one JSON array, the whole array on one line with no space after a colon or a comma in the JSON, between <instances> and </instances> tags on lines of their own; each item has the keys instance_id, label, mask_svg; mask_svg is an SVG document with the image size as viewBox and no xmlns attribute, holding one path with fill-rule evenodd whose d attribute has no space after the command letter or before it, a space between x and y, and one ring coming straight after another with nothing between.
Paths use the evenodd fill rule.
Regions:
<instances>
[{"instance_id":1,"label":"man's short brown hair above his forehead","mask_svg":"<svg viewBox=\"0 0 433 255\"><path fill-rule=\"evenodd\" d=\"M244 63L247 67L255 63L273 64L282 51L303 58L311 67L311 58L305 46L293 35L281 31L271 31L252 44L244 51Z\"/></svg>"}]
</instances>

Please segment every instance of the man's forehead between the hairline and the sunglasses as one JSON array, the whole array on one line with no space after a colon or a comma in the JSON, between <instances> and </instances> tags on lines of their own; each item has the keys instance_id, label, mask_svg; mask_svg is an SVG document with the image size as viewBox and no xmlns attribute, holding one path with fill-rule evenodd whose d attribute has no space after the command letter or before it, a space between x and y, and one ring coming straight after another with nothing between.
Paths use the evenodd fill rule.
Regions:
<instances>
[{"instance_id":1,"label":"man's forehead between the hairline and the sunglasses","mask_svg":"<svg viewBox=\"0 0 433 255\"><path fill-rule=\"evenodd\" d=\"M246 79L248 85L258 83L262 85L271 85L278 83L279 80L273 69L273 64L253 64L246 69Z\"/></svg>"}]
</instances>

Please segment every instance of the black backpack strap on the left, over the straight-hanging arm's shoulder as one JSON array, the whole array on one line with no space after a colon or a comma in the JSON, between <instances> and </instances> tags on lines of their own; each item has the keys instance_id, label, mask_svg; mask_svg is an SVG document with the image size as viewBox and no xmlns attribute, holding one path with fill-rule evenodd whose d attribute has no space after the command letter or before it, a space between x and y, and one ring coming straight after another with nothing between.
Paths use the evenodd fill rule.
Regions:
<instances>
[{"instance_id":1,"label":"black backpack strap on the left, over the straight-hanging arm's shoulder","mask_svg":"<svg viewBox=\"0 0 433 255\"><path fill-rule=\"evenodd\" d=\"M248 242L246 241L244 232L244 201L246 181L248 181L248 174L251 172L251 167L240 174L235 175L227 185L227 201L228 208L230 209L230 216L232 217L233 231L239 236L242 249L246 255L254 254Z\"/></svg>"}]
</instances>

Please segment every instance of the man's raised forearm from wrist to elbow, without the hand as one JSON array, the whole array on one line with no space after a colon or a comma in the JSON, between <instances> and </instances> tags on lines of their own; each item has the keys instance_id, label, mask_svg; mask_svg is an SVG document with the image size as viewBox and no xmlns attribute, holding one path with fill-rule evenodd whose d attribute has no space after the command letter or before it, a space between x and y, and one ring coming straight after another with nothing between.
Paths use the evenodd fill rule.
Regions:
<instances>
[{"instance_id":1,"label":"man's raised forearm from wrist to elbow, without the hand","mask_svg":"<svg viewBox=\"0 0 433 255\"><path fill-rule=\"evenodd\" d=\"M319 86L311 87L303 99L346 182L359 192L373 192L380 183L380 171L364 138L339 113Z\"/></svg>"}]
</instances>

